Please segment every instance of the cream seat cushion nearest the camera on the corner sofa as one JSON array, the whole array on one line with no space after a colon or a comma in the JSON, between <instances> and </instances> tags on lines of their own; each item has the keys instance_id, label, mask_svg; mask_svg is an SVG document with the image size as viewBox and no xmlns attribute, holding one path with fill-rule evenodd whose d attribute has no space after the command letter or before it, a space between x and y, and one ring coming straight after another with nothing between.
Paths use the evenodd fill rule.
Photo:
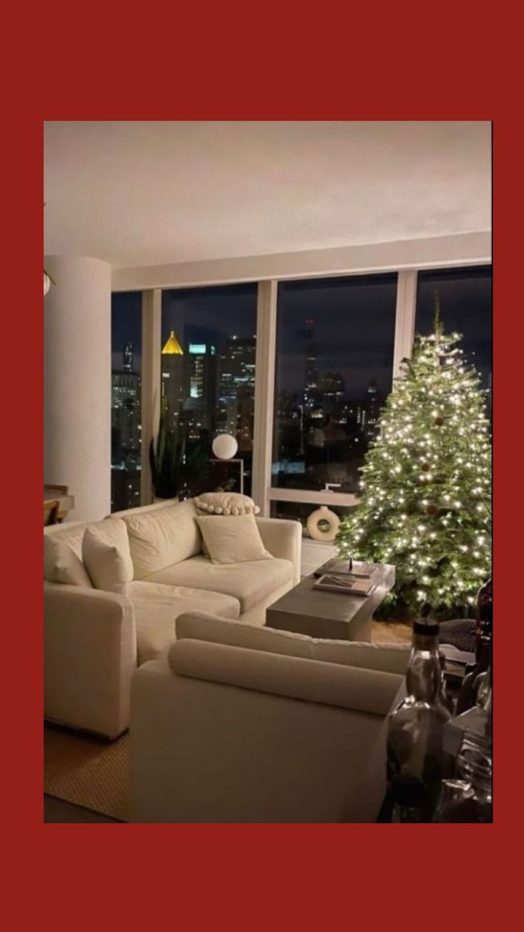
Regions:
<instances>
[{"instance_id":1,"label":"cream seat cushion nearest the camera on the corner sofa","mask_svg":"<svg viewBox=\"0 0 524 932\"><path fill-rule=\"evenodd\" d=\"M135 610L139 664L155 660L175 639L175 622L181 612L197 607L197 611L232 619L240 612L240 603L231 596L164 583L135 580L128 585L128 596Z\"/></svg>"}]
</instances>

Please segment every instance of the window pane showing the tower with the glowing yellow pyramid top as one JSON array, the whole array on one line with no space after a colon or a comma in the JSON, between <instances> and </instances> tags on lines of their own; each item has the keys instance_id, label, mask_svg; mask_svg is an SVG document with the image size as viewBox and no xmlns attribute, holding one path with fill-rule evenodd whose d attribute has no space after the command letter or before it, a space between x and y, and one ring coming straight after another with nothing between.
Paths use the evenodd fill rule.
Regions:
<instances>
[{"instance_id":1,"label":"window pane showing the tower with the glowing yellow pyramid top","mask_svg":"<svg viewBox=\"0 0 524 932\"><path fill-rule=\"evenodd\" d=\"M201 451L189 491L240 487L249 495L253 459L257 285L184 288L162 294L161 396L168 428ZM230 434L234 462L213 462L213 439Z\"/></svg>"}]
</instances>

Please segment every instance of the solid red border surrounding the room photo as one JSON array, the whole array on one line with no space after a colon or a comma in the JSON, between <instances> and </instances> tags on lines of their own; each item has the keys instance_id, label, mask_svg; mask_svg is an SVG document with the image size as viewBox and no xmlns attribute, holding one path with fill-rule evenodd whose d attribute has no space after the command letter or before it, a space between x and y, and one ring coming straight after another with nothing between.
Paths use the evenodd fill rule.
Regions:
<instances>
[{"instance_id":1,"label":"solid red border surrounding the room photo","mask_svg":"<svg viewBox=\"0 0 524 932\"><path fill-rule=\"evenodd\" d=\"M66 9L71 11L72 7L63 5L62 16ZM249 31L247 8L238 10L235 16L230 9L227 13L218 7L209 10L205 33L201 23L189 21L186 11L175 10L176 21L170 28L159 12L152 12L146 23L140 23L139 47L126 22L120 21L118 28L112 29L107 10L102 14L93 6L79 9L75 24L62 19L54 8L47 11L45 21L43 14L37 14L36 22L24 24L23 34L26 26L31 30L26 48L21 44L17 48L14 41L10 62L7 57L3 62L4 87L11 94L16 89L4 114L7 136L2 147L8 255L3 264L7 383L2 466L3 487L11 493L4 499L4 521L9 521L11 530L4 557L8 580L3 586L6 643L2 677L7 731L4 747L10 750L3 774L8 768L12 778L4 788L3 822L15 927L29 925L33 913L33 921L53 916L59 928L87 928L96 923L110 928L113 923L123 925L128 916L148 924L166 917L172 924L191 929L213 927L221 919L228 928L242 929L272 925L331 928L357 919L369 923L380 918L393 927L419 921L426 924L426 914L415 911L417 895L442 927L454 924L456 908L461 909L461 918L471 922L479 905L479 915L486 919L483 904L493 890L495 862L506 868L506 880L513 873L509 863L504 865L504 831L511 831L519 809L516 751L520 731L512 728L509 716L506 718L501 709L509 709L512 702L514 706L521 703L521 696L512 690L517 677L511 675L516 670L520 607L515 583L504 583L510 561L515 577L519 557L517 547L509 549L512 535L517 543L517 387L513 393L506 391L504 398L504 381L509 382L520 367L517 354L522 346L516 275L520 238L516 229L511 236L512 221L520 221L514 186L521 175L515 137L518 117L516 123L509 114L504 115L502 103L508 87L490 86L493 62L486 62L486 75L478 74L475 59L482 36L476 22L468 24L467 38L458 33L456 10L450 34L444 34L440 23L424 26L427 35L434 38L433 48L428 45L424 49L420 36L413 34L411 53L406 48L398 61L388 21L393 28L399 16L406 16L399 8L380 11L380 35L376 26L364 27L351 9L346 10L349 21L344 23L336 10L324 8L322 19L315 18L312 23L314 44L307 22L313 15L307 17L305 7L300 20L295 16L293 30L288 33L282 9L278 23L270 7L260 13L253 9L256 22ZM379 16L378 10L373 12ZM443 13L441 9L438 12ZM229 21L225 22L227 14ZM128 19L132 15L128 7ZM7 17L13 39L17 31L22 34L15 16L9 12ZM201 10L197 16L202 18ZM261 19L271 28L263 29ZM227 38L224 33L219 48L217 37L224 25ZM422 28L421 22L416 26ZM372 48L361 45L369 28L374 28ZM201 30L199 42L193 46L188 42L186 47L184 36L195 35L197 29ZM396 41L408 45L407 35ZM468 72L470 48L474 61ZM122 54L126 52L127 57ZM510 55L508 48L507 57ZM26 68L28 57L31 68ZM375 70L378 60L382 71ZM461 64L460 75L452 72L455 61ZM150 80L144 77L147 73ZM475 89L469 87L470 74L475 75ZM399 109L410 113L399 115ZM480 829L421 826L408 830L380 826L109 829L44 825L41 538L40 524L34 519L40 514L43 474L42 120L79 116L368 119L421 115L494 118L494 562L497 617L501 619L496 623L501 633L495 641L495 824ZM506 385L506 390L509 388ZM12 541L11 531L16 541ZM510 649L513 656L505 656ZM509 754L514 780L504 792ZM425 870L420 870L422 867ZM469 884L464 884L466 878ZM450 902L453 900L456 906Z\"/></svg>"}]
</instances>

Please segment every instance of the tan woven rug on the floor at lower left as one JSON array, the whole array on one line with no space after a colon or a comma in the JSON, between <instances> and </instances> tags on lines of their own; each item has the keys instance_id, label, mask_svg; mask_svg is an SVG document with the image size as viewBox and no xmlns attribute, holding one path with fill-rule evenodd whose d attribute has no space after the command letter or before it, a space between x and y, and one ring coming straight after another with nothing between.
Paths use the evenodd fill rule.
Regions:
<instances>
[{"instance_id":1,"label":"tan woven rug on the floor at lower left","mask_svg":"<svg viewBox=\"0 0 524 932\"><path fill-rule=\"evenodd\" d=\"M129 736L103 741L47 725L44 791L103 816L129 820Z\"/></svg>"}]
</instances>

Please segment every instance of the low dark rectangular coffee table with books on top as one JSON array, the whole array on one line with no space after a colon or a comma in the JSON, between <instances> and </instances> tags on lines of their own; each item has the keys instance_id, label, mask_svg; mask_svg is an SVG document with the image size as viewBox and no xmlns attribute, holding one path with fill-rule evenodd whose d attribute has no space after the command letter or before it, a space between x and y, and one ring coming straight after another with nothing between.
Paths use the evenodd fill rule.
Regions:
<instances>
[{"instance_id":1,"label":"low dark rectangular coffee table with books on top","mask_svg":"<svg viewBox=\"0 0 524 932\"><path fill-rule=\"evenodd\" d=\"M310 637L370 641L373 611L395 585L395 567L387 563L375 566L377 569L369 596L322 592L313 588L316 578L306 576L269 606L266 626Z\"/></svg>"}]
</instances>

